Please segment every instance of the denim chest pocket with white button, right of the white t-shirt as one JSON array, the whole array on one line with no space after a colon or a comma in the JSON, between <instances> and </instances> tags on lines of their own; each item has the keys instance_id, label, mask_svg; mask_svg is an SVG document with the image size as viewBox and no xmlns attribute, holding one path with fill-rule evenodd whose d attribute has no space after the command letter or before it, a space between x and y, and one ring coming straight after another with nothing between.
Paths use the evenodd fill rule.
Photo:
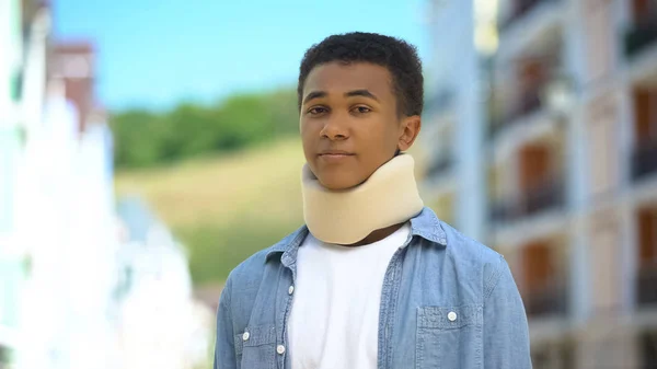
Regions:
<instances>
[{"instance_id":1,"label":"denim chest pocket with white button, right of the white t-shirt","mask_svg":"<svg viewBox=\"0 0 657 369\"><path fill-rule=\"evenodd\" d=\"M481 304L417 308L416 369L482 366Z\"/></svg>"}]
</instances>

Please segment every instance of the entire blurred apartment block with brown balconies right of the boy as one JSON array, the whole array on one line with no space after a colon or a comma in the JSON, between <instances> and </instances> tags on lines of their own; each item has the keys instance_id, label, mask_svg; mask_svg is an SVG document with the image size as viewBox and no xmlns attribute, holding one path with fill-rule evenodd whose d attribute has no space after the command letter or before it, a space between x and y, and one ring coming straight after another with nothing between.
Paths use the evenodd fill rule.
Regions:
<instances>
[{"instance_id":1,"label":"entire blurred apartment block with brown balconies right of the boy","mask_svg":"<svg viewBox=\"0 0 657 369\"><path fill-rule=\"evenodd\" d=\"M460 18L450 16L459 7ZM434 91L443 91L435 96L462 96L472 81L456 55L474 41L441 41L465 35L454 31L462 20L486 30L466 7L435 1L445 21L431 30L443 56L427 68ZM430 205L505 255L529 316L534 368L655 368L657 3L500 0L495 12L495 53L472 87L481 104L427 101L436 153L424 183L439 194ZM460 62L443 64L451 59ZM491 89L480 89L484 80ZM485 185L463 176L476 161L469 155L480 157ZM486 209L475 228L469 223L481 215L468 200Z\"/></svg>"}]
</instances>

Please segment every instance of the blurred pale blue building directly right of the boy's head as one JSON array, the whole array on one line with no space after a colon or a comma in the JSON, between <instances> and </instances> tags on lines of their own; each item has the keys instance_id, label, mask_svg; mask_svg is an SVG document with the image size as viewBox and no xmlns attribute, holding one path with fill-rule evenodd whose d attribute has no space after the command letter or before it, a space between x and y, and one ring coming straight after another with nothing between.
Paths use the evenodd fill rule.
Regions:
<instances>
[{"instance_id":1,"label":"blurred pale blue building directly right of the boy's head","mask_svg":"<svg viewBox=\"0 0 657 369\"><path fill-rule=\"evenodd\" d=\"M427 100L419 142L426 153L420 183L426 204L475 239L485 237L486 112L481 106L491 44L475 26L486 23L481 3L434 1L427 11L433 50L425 64Z\"/></svg>"}]
</instances>

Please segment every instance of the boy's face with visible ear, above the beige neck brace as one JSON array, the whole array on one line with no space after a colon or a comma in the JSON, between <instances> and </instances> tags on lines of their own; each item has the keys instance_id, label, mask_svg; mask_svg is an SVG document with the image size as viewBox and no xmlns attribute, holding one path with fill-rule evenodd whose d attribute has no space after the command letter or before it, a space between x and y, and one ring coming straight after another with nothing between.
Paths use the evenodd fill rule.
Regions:
<instances>
[{"instance_id":1,"label":"boy's face with visible ear, above the beige neck brace","mask_svg":"<svg viewBox=\"0 0 657 369\"><path fill-rule=\"evenodd\" d=\"M320 65L308 76L302 99L306 160L328 189L361 184L419 132L419 116L397 114L392 77L378 65Z\"/></svg>"}]
</instances>

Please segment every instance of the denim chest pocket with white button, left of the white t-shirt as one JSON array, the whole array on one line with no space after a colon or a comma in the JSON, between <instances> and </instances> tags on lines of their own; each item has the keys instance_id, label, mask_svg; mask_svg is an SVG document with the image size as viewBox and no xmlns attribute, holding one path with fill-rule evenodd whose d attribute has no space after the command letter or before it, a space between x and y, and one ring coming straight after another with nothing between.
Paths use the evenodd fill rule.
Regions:
<instances>
[{"instance_id":1,"label":"denim chest pocket with white button, left of the white t-shirt","mask_svg":"<svg viewBox=\"0 0 657 369\"><path fill-rule=\"evenodd\" d=\"M246 327L234 339L238 368L276 368L276 326Z\"/></svg>"}]
</instances>

